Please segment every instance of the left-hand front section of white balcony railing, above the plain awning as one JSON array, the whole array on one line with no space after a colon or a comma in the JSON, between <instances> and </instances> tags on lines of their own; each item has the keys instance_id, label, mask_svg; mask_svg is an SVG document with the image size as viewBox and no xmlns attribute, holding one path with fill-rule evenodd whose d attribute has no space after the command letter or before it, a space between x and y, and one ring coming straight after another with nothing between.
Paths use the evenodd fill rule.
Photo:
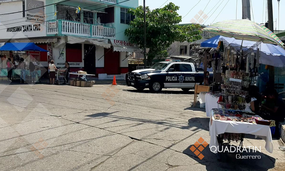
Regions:
<instances>
[{"instance_id":1,"label":"left-hand front section of white balcony railing, above the plain awning","mask_svg":"<svg viewBox=\"0 0 285 171\"><path fill-rule=\"evenodd\" d=\"M75 36L88 36L90 35L90 25L80 24L77 22L62 21L62 34L69 34Z\"/></svg>"}]
</instances>

